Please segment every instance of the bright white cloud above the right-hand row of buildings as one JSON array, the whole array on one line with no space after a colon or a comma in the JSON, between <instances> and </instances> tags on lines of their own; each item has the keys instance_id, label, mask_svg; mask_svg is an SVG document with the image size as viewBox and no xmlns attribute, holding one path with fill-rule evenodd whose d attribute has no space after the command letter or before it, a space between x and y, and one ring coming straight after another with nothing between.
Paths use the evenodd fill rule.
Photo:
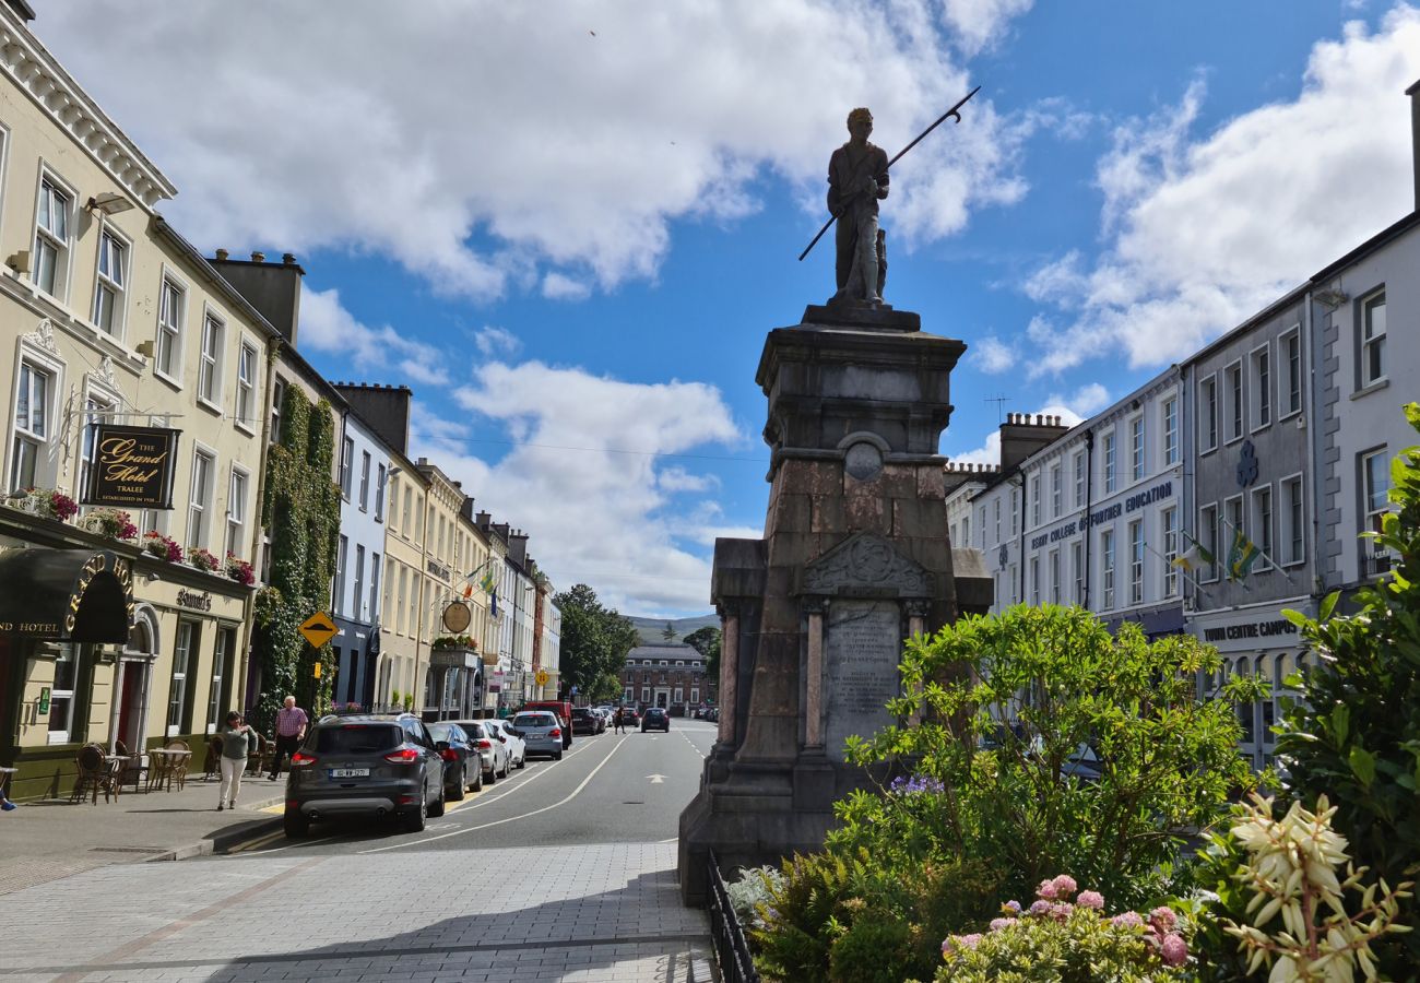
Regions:
<instances>
[{"instance_id":1,"label":"bright white cloud above the right-hand row of buildings","mask_svg":"<svg viewBox=\"0 0 1420 983\"><path fill-rule=\"evenodd\" d=\"M1295 99L1196 136L1196 81L1119 126L1096 173L1102 256L1066 254L1025 287L1058 308L1027 330L1031 374L1177 361L1407 214L1417 75L1420 11L1397 6L1375 33L1350 23L1318 43Z\"/></svg>"}]
</instances>

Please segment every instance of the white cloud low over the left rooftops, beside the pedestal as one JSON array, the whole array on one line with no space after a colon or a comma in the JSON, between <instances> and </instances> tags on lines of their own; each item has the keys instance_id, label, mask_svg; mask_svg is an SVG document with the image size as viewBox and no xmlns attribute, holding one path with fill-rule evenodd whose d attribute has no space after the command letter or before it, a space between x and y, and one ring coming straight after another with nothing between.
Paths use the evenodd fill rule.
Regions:
<instances>
[{"instance_id":1,"label":"white cloud low over the left rooftops, beside the pedestal","mask_svg":"<svg viewBox=\"0 0 1420 983\"><path fill-rule=\"evenodd\" d=\"M412 443L463 482L498 521L528 530L530 553L561 590L591 584L628 614L710 604L704 528L717 482L665 455L747 439L720 392L699 382L640 385L542 362L488 362L456 402L513 443L488 453L469 426L416 402ZM711 540L713 541L713 537Z\"/></svg>"}]
</instances>

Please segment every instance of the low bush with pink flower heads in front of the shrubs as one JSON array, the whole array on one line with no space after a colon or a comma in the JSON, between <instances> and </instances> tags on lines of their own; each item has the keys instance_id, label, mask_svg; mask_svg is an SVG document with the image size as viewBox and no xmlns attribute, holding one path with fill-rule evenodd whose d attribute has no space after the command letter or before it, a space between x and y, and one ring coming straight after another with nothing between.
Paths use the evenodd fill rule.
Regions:
<instances>
[{"instance_id":1,"label":"low bush with pink flower heads in front of the shrubs","mask_svg":"<svg viewBox=\"0 0 1420 983\"><path fill-rule=\"evenodd\" d=\"M1030 908L1008 901L990 930L947 936L937 980L985 983L1095 983L1096 980L1184 980L1189 943L1172 908L1149 915L1105 913L1098 891L1076 891L1062 874L1042 881Z\"/></svg>"}]
</instances>

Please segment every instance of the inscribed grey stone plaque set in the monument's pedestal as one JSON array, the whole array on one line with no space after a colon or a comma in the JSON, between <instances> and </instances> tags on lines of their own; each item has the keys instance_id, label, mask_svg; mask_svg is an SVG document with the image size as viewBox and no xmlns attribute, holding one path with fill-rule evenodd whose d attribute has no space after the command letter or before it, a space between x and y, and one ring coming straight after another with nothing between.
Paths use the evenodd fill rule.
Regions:
<instances>
[{"instance_id":1,"label":"inscribed grey stone plaque set in the monument's pedestal","mask_svg":"<svg viewBox=\"0 0 1420 983\"><path fill-rule=\"evenodd\" d=\"M869 737L893 717L897 696L902 617L896 601L836 599L828 608L824 641L824 750L843 760L849 734Z\"/></svg>"}]
</instances>

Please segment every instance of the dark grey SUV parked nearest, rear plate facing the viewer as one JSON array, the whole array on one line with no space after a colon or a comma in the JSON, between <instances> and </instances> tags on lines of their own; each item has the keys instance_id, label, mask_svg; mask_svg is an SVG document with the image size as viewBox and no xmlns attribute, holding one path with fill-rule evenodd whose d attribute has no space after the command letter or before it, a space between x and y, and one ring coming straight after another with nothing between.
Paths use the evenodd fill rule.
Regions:
<instances>
[{"instance_id":1,"label":"dark grey SUV parked nearest, rear plate facing the viewer","mask_svg":"<svg viewBox=\"0 0 1420 983\"><path fill-rule=\"evenodd\" d=\"M412 713L325 717L291 756L287 837L345 815L389 815L419 832L444 811L444 759Z\"/></svg>"}]
</instances>

